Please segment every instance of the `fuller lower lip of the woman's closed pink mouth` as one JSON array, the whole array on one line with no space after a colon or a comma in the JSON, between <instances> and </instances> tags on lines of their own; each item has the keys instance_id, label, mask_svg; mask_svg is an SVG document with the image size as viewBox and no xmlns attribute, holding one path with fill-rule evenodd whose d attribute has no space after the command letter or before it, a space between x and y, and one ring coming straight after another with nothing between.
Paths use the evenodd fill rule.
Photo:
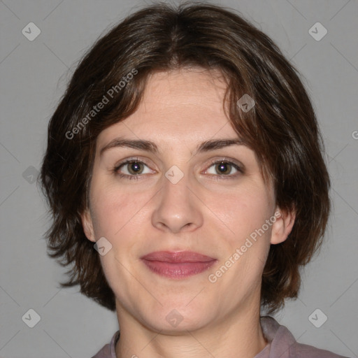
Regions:
<instances>
[{"instance_id":1,"label":"fuller lower lip of the woman's closed pink mouth","mask_svg":"<svg viewBox=\"0 0 358 358\"><path fill-rule=\"evenodd\" d=\"M144 264L154 273L168 278L187 278L208 270L216 260L209 262L161 262L143 259Z\"/></svg>"}]
</instances>

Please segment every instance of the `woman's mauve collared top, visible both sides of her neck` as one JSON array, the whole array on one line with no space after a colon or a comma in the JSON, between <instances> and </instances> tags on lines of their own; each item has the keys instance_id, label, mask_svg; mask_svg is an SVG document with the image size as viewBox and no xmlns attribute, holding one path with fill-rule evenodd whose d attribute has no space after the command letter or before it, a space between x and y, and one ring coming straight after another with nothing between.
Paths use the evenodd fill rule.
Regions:
<instances>
[{"instance_id":1,"label":"woman's mauve collared top, visible both sides of her neck","mask_svg":"<svg viewBox=\"0 0 358 358\"><path fill-rule=\"evenodd\" d=\"M320 350L312 345L297 343L291 332L273 317L261 317L260 323L268 344L254 358L348 358L328 350ZM115 343L119 338L120 331L116 331L110 343L104 345L92 358L117 358Z\"/></svg>"}]
</instances>

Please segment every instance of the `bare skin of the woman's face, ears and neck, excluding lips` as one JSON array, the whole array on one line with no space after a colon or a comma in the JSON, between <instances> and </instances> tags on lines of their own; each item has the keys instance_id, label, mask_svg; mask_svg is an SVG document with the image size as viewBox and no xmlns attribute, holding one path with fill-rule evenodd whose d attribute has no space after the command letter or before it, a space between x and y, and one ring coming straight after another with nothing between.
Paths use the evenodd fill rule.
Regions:
<instances>
[{"instance_id":1,"label":"bare skin of the woman's face, ears and neck, excluding lips","mask_svg":"<svg viewBox=\"0 0 358 358\"><path fill-rule=\"evenodd\" d=\"M136 112L97 138L90 208L82 220L90 241L105 237L112 245L101 264L116 297L117 357L255 357L268 343L259 324L262 271L270 245L291 231L294 213L275 206L272 185L245 145L194 155L203 141L237 138L224 113L219 75L203 69L152 75ZM153 141L159 153L116 147L99 155L119 136ZM141 178L117 176L115 166L133 157L144 163ZM212 164L217 159L240 165L243 173L228 164L221 174ZM176 184L165 176L173 165L184 175ZM130 167L117 173L136 176ZM264 234L210 282L208 275L275 213ZM217 262L173 280L141 261L158 250L191 250ZM176 327L166 320L174 309L182 317Z\"/></svg>"}]
</instances>

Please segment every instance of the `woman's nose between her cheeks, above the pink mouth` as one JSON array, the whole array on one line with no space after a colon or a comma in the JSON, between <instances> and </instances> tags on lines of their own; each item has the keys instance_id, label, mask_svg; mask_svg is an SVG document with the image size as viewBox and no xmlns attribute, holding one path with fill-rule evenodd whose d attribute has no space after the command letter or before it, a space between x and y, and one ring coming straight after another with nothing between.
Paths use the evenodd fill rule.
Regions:
<instances>
[{"instance_id":1,"label":"woman's nose between her cheeks, above the pink mouth","mask_svg":"<svg viewBox=\"0 0 358 358\"><path fill-rule=\"evenodd\" d=\"M190 187L187 175L175 184L166 177L163 181L152 213L152 225L173 234L201 227L203 204Z\"/></svg>"}]
</instances>

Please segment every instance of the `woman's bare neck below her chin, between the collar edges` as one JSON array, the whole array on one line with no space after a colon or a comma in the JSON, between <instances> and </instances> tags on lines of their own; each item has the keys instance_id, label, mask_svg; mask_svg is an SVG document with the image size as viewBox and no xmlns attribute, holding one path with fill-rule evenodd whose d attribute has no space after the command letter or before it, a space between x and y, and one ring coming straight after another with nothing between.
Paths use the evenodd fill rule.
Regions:
<instances>
[{"instance_id":1,"label":"woman's bare neck below her chin, between the collar edges","mask_svg":"<svg viewBox=\"0 0 358 358\"><path fill-rule=\"evenodd\" d=\"M118 307L118 306L117 306ZM259 309L239 310L220 322L176 334L155 331L117 308L120 340L117 358L254 358L268 343L259 322Z\"/></svg>"}]
</instances>

